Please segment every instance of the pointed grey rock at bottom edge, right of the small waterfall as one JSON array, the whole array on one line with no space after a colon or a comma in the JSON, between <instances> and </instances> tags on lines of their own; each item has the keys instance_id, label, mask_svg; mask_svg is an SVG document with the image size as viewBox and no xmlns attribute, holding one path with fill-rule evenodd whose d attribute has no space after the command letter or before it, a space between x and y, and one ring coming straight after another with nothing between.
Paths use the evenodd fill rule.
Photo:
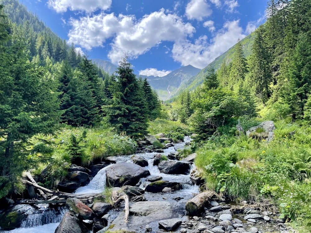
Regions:
<instances>
[{"instance_id":1,"label":"pointed grey rock at bottom edge, right of the small waterfall","mask_svg":"<svg viewBox=\"0 0 311 233\"><path fill-rule=\"evenodd\" d=\"M87 231L81 220L73 212L66 212L55 233L83 233Z\"/></svg>"}]
</instances>

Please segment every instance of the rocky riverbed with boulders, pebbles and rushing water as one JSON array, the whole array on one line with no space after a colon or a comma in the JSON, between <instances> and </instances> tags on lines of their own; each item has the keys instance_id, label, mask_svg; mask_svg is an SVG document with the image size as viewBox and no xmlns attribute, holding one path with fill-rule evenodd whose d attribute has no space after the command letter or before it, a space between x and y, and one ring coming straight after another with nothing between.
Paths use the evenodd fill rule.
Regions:
<instances>
[{"instance_id":1,"label":"rocky riverbed with boulders, pebbles and rushing water","mask_svg":"<svg viewBox=\"0 0 311 233\"><path fill-rule=\"evenodd\" d=\"M70 177L60 186L64 189L69 187L69 190L73 189L77 193L100 192L107 184L115 187L114 189L118 190L118 195L126 194L129 198L127 221L124 221L124 202L112 207L109 203L100 200L94 201L94 198L89 198L84 203L78 199L68 199L67 209L63 207L59 211L57 208L54 211L55 216L51 217L52 221L36 224L49 223L44 225L47 226L46 228L26 224L33 217L31 212L28 212L28 215L26 212L22 212L22 209L27 208L29 211L28 205L22 205L20 208L13 207L17 208L15 212L11 209L11 211L2 213L2 219L19 213L20 224L17 224L16 227L20 228L6 232L103 233L107 230L123 230L158 233L167 231L181 233L287 233L293 231L285 225L285 219L280 219L277 213L261 209L260 205L256 206L251 202L229 203L217 197L209 199L195 216L188 216L185 205L199 193L202 179L193 166L195 154L179 161L176 150L182 149L188 144L190 138L186 137L185 142L178 144L168 143L164 150L156 151L148 146L148 144L152 144L152 140L155 138L151 136L146 138L142 142L143 147L140 153L134 155L108 158L103 163L88 168L72 165ZM169 141L169 139L165 140ZM169 160L161 161L163 155ZM94 177L92 178L92 176ZM85 186L81 186L81 183ZM14 214L12 214L13 212ZM41 213L42 215L46 214L44 211ZM51 228L51 222L59 221L60 217L62 221L54 223ZM58 227L55 230L56 226ZM38 227L41 228L37 231Z\"/></svg>"}]
</instances>

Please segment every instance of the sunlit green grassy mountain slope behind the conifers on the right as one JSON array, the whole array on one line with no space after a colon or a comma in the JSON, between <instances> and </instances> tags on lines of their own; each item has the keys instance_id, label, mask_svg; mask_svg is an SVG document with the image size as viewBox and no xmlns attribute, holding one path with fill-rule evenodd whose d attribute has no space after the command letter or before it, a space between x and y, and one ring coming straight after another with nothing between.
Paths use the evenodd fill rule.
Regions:
<instances>
[{"instance_id":1,"label":"sunlit green grassy mountain slope behind the conifers on the right","mask_svg":"<svg viewBox=\"0 0 311 233\"><path fill-rule=\"evenodd\" d=\"M243 45L244 57L249 57L251 55L251 53L252 53L252 45L253 45L254 36L255 36L255 33L252 32L247 37L245 37L244 39L241 40L241 43ZM196 74L195 76L191 77L186 82L184 82L180 86L178 91L175 94L173 94L170 98L178 96L184 90L190 90L191 91L191 90L195 89L197 86L201 85L203 83L204 75L207 72L207 68L208 67L211 66L215 70L217 70L220 67L220 65L222 64L222 62L224 62L224 61L228 61L228 62L231 61L233 53L234 53L234 46L232 46L225 53L223 53L219 57L217 57L208 66L203 68L198 74Z\"/></svg>"}]
</instances>

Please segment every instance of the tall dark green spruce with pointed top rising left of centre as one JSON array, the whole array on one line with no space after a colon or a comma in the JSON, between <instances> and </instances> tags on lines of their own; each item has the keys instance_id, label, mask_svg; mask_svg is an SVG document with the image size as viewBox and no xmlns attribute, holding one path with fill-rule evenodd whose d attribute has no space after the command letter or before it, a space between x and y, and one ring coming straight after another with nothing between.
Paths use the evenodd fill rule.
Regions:
<instances>
[{"instance_id":1,"label":"tall dark green spruce with pointed top rising left of centre","mask_svg":"<svg viewBox=\"0 0 311 233\"><path fill-rule=\"evenodd\" d=\"M110 89L112 99L104 106L104 112L117 133L139 137L147 133L148 115L142 86L131 66L125 54Z\"/></svg>"}]
</instances>

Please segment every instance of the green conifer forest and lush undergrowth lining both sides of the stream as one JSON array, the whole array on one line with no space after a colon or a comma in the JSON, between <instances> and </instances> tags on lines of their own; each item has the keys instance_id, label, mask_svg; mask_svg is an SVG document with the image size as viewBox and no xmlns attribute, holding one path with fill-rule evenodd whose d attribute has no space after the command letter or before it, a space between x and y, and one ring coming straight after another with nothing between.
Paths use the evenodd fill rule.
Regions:
<instances>
[{"instance_id":1,"label":"green conifer forest and lush undergrowth lining both sides of the stream","mask_svg":"<svg viewBox=\"0 0 311 233\"><path fill-rule=\"evenodd\" d=\"M192 134L205 188L278 208L311 227L311 2L269 0L251 53L208 66L202 85L162 103L125 53L115 74L76 52L16 0L0 2L0 198L19 196L24 171L55 189L71 163L132 154L145 135ZM264 130L274 121L270 140ZM163 148L161 143L154 148Z\"/></svg>"}]
</instances>

